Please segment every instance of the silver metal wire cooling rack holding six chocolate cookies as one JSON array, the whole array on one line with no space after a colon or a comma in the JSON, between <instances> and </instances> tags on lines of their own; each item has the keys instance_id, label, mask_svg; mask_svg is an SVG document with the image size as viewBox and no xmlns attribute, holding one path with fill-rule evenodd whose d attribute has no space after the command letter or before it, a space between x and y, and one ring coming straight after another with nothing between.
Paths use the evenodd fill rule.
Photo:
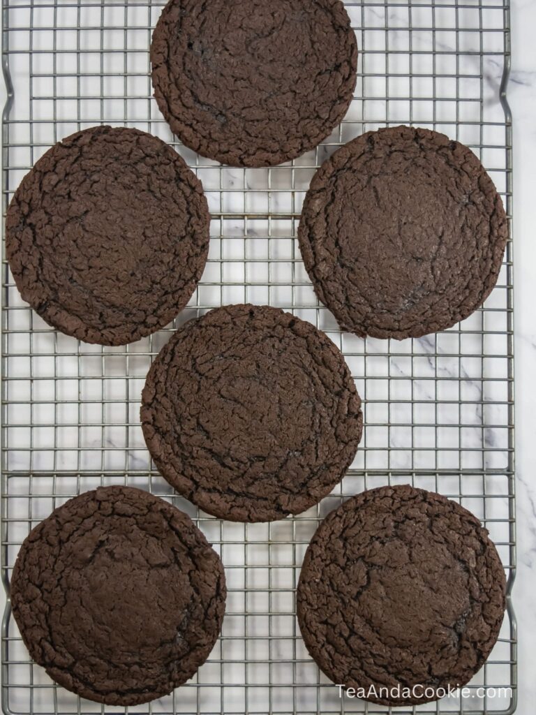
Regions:
<instances>
[{"instance_id":1,"label":"silver metal wire cooling rack holding six chocolate cookies","mask_svg":"<svg viewBox=\"0 0 536 715\"><path fill-rule=\"evenodd\" d=\"M268 1L268 0L267 0ZM379 713L339 698L307 655L294 591L319 521L364 488L413 483L459 500L515 571L512 246L482 310L419 340L361 340L319 306L295 240L304 192L340 144L401 123L445 132L482 159L512 208L507 0L346 2L359 43L355 99L341 127L290 164L222 167L177 144L151 98L148 46L162 1L3 0L3 208L51 144L94 124L157 134L197 172L212 212L209 262L177 324L212 307L251 301L291 310L341 348L364 398L361 448L342 485L317 507L272 524L237 524L172 493L149 460L140 393L162 330L126 347L84 345L51 330L21 301L2 264L2 578L21 541L51 510L100 484L149 489L187 511L221 553L229 597L222 637L189 684L154 714ZM10 618L2 631L4 713L116 712L54 686L34 666ZM471 696L397 709L512 713L515 618L510 606Z\"/></svg>"}]
</instances>

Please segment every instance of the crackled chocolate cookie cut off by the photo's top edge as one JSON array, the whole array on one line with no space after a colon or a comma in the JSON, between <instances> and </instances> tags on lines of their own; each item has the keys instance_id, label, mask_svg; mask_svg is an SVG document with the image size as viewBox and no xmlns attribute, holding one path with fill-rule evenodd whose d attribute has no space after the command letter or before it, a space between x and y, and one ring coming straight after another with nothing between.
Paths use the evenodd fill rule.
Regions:
<instances>
[{"instance_id":1,"label":"crackled chocolate cookie cut off by the photo's top edge","mask_svg":"<svg viewBox=\"0 0 536 715\"><path fill-rule=\"evenodd\" d=\"M154 97L187 147L267 167L314 149L339 124L357 43L339 0L169 0L151 62Z\"/></svg>"}]
</instances>

